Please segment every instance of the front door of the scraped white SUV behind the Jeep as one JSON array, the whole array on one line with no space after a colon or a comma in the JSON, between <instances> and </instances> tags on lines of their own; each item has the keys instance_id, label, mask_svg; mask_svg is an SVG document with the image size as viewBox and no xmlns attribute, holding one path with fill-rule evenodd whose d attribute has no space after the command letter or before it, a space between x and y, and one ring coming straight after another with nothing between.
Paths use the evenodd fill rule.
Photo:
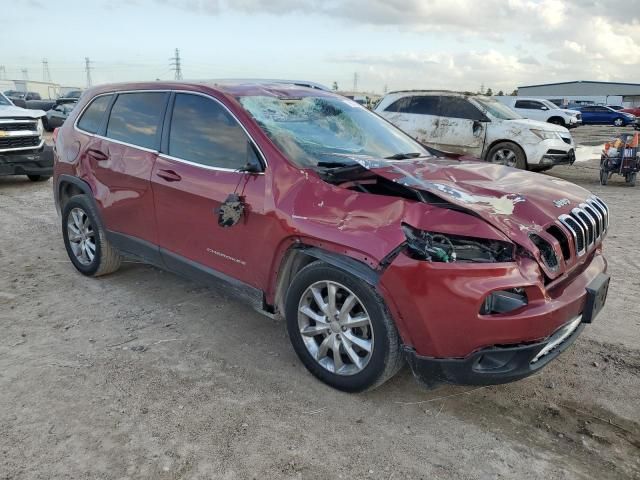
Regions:
<instances>
[{"instance_id":1,"label":"front door of the scraped white SUV behind the Jeep","mask_svg":"<svg viewBox=\"0 0 640 480\"><path fill-rule=\"evenodd\" d=\"M437 148L480 158L487 132L487 122L480 109L464 97L442 96L440 113Z\"/></svg>"}]
</instances>

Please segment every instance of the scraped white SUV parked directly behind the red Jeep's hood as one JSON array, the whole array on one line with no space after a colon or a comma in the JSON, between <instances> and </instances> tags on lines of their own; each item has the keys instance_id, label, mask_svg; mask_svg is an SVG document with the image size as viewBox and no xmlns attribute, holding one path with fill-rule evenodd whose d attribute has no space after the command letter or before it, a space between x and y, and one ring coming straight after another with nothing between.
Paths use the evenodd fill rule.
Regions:
<instances>
[{"instance_id":1,"label":"scraped white SUV parked directly behind the red Jeep's hood","mask_svg":"<svg viewBox=\"0 0 640 480\"><path fill-rule=\"evenodd\" d=\"M419 142L445 152L538 171L575 161L565 127L524 119L492 97L395 92L375 111Z\"/></svg>"}]
</instances>

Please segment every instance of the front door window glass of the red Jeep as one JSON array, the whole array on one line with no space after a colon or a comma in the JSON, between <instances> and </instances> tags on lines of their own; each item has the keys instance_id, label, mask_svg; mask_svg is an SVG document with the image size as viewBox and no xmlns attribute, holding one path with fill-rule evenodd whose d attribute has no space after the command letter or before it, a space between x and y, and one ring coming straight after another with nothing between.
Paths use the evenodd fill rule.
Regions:
<instances>
[{"instance_id":1,"label":"front door window glass of the red Jeep","mask_svg":"<svg viewBox=\"0 0 640 480\"><path fill-rule=\"evenodd\" d=\"M208 167L238 169L247 163L248 137L216 101L178 93L173 106L169 155Z\"/></svg>"}]
</instances>

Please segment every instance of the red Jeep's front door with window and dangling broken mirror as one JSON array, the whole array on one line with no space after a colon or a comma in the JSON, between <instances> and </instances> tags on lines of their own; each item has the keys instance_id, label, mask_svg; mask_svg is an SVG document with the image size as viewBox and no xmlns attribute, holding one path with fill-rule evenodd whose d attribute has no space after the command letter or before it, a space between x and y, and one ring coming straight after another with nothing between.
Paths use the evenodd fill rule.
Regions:
<instances>
[{"instance_id":1,"label":"red Jeep's front door with window and dangling broken mirror","mask_svg":"<svg viewBox=\"0 0 640 480\"><path fill-rule=\"evenodd\" d=\"M194 262L263 289L270 265L259 261L260 245L271 221L265 175L239 171L257 151L219 101L176 93L172 103L151 177L165 262Z\"/></svg>"}]
</instances>

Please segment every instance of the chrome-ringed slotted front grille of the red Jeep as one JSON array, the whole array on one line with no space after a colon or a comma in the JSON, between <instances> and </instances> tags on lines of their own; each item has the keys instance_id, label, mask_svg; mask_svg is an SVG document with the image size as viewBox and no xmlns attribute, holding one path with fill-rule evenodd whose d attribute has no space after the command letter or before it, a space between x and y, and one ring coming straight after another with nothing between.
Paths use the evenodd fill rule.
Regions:
<instances>
[{"instance_id":1,"label":"chrome-ringed slotted front grille of the red Jeep","mask_svg":"<svg viewBox=\"0 0 640 480\"><path fill-rule=\"evenodd\" d=\"M609 208L594 195L571 210L568 215L560 215L558 220L569 230L576 253L582 256L595 246L609 229ZM551 228L553 227L547 231L558 238L558 232L551 232ZM562 245L562 240L558 238L558 241Z\"/></svg>"}]
</instances>

